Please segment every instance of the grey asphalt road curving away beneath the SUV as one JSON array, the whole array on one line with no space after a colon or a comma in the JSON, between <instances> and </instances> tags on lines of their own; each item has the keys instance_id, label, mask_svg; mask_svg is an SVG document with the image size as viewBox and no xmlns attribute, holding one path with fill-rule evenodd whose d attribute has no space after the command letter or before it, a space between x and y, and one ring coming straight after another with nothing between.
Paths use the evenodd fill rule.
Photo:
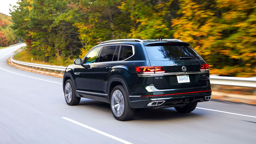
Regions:
<instances>
[{"instance_id":1,"label":"grey asphalt road curving away beneath the SUV","mask_svg":"<svg viewBox=\"0 0 256 144\"><path fill-rule=\"evenodd\" d=\"M256 106L246 104L210 100L188 114L143 109L126 122L117 121L107 103L82 98L78 106L68 106L61 78L7 65L19 47L0 50L1 144L256 143Z\"/></svg>"}]
</instances>

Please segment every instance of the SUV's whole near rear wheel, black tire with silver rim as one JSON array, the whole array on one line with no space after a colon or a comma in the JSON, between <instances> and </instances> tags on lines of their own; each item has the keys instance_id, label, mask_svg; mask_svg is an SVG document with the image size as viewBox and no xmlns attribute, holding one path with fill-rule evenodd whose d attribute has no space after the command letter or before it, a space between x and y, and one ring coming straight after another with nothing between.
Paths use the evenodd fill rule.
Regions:
<instances>
[{"instance_id":1,"label":"SUV's whole near rear wheel, black tire with silver rim","mask_svg":"<svg viewBox=\"0 0 256 144\"><path fill-rule=\"evenodd\" d=\"M118 105L119 103L119 105ZM135 109L130 108L124 87L117 85L111 92L110 108L113 116L119 121L132 119Z\"/></svg>"}]
</instances>

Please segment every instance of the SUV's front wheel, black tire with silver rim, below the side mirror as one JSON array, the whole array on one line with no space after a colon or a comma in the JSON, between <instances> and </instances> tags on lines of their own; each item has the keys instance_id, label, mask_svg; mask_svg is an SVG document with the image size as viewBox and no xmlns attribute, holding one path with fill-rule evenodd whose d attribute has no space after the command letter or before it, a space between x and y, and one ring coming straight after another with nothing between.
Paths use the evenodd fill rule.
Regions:
<instances>
[{"instance_id":1,"label":"SUV's front wheel, black tire with silver rim, below the side mirror","mask_svg":"<svg viewBox=\"0 0 256 144\"><path fill-rule=\"evenodd\" d=\"M71 96L71 99L70 99L70 96ZM75 88L71 79L68 79L65 83L64 97L69 106L76 106L79 104L81 100L80 97L76 97Z\"/></svg>"}]
</instances>

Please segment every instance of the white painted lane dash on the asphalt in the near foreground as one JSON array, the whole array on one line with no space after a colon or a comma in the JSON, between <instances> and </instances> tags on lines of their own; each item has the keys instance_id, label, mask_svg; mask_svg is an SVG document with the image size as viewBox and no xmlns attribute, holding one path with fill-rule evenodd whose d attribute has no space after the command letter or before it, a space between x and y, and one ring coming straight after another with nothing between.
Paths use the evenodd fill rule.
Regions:
<instances>
[{"instance_id":1,"label":"white painted lane dash on the asphalt in the near foreground","mask_svg":"<svg viewBox=\"0 0 256 144\"><path fill-rule=\"evenodd\" d=\"M70 121L70 122L72 122L72 123L81 125L81 126L87 128L87 129L90 129L90 130L94 131L94 132L98 132L98 133L100 133L100 134L103 134L103 135L105 135L105 136L107 136L107 137L109 137L109 138L112 138L112 139L114 139L114 140L118 140L118 141L120 141L120 142L122 142L122 143L125 143L125 144L132 144L132 143L130 143L130 142L128 142L128 141L119 139L119 138L117 138L117 137L115 137L115 136L113 136L113 135L110 135L110 134L108 134L108 133L101 132L101 131L99 131L99 130L97 130L97 129L95 129L95 128L92 128L92 127L90 127L90 126L81 124L81 123L76 122L76 121L74 121L74 120L72 120L72 119L69 119L69 118L67 118L67 117L61 117L61 118L64 118L64 119L66 119L66 120L68 120L68 121Z\"/></svg>"}]
</instances>

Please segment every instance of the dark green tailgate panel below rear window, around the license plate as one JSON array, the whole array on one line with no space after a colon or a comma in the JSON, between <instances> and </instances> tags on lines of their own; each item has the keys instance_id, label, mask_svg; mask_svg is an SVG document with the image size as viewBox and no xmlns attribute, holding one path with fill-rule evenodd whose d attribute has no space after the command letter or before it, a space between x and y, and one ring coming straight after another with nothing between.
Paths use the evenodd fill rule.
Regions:
<instances>
[{"instance_id":1,"label":"dark green tailgate panel below rear window, around the license plate","mask_svg":"<svg viewBox=\"0 0 256 144\"><path fill-rule=\"evenodd\" d=\"M157 89L175 89L188 88L207 85L207 75L209 71L200 71L201 64L204 60L182 60L182 61L150 61L151 66L162 66L164 74L155 74L154 86ZM186 71L182 67L186 67ZM179 77L189 77L189 82L178 82Z\"/></svg>"}]
</instances>

